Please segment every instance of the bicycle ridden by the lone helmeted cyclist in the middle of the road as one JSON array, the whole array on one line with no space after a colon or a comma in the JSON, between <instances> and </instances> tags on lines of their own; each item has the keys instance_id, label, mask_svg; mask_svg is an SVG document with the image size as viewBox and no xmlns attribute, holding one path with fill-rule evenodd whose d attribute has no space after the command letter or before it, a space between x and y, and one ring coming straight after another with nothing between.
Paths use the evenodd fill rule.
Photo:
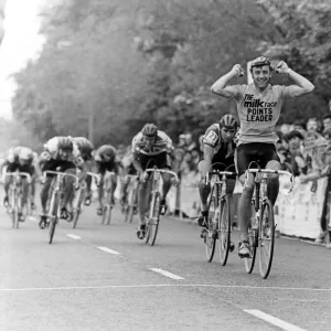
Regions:
<instances>
[{"instance_id":1,"label":"bicycle ridden by the lone helmeted cyclist in the middle of the road","mask_svg":"<svg viewBox=\"0 0 331 331\"><path fill-rule=\"evenodd\" d=\"M179 179L175 172L166 169L158 169L156 166L152 169L146 169L146 177L148 173L152 173L151 180L151 192L150 192L150 209L149 215L146 222L146 235L145 242L150 246L153 246L157 239L159 222L160 222L160 202L161 202L161 190L162 181L161 173L169 173L173 175L174 181L178 183Z\"/></svg>"}]
</instances>

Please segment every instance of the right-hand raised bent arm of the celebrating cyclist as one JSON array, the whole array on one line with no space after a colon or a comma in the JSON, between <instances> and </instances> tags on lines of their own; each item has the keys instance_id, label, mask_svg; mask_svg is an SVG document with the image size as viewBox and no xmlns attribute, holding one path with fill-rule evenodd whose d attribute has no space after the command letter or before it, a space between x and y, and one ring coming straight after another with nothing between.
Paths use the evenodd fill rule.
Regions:
<instances>
[{"instance_id":1,"label":"right-hand raised bent arm of the celebrating cyclist","mask_svg":"<svg viewBox=\"0 0 331 331\"><path fill-rule=\"evenodd\" d=\"M291 96L301 96L303 94L311 93L314 89L312 83L310 83L307 78L289 68L284 61L280 61L276 65L275 71L278 74L288 75L288 77L295 83L295 85L289 86Z\"/></svg>"}]
</instances>

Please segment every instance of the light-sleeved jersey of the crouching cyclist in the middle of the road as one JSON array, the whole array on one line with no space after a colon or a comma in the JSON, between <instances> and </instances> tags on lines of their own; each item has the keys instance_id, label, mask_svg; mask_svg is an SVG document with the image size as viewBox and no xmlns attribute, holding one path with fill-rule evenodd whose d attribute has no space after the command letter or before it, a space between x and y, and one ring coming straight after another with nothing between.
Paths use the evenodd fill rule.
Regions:
<instances>
[{"instance_id":1,"label":"light-sleeved jersey of the crouching cyclist in the middle of the road","mask_svg":"<svg viewBox=\"0 0 331 331\"><path fill-rule=\"evenodd\" d=\"M140 131L138 135L136 135L132 139L132 152L142 152L147 156L157 156L162 152L171 153L174 148L172 146L172 140L170 137L164 134L163 131L158 130L158 135L156 138L156 141L151 149L148 149L146 146L145 137L142 132Z\"/></svg>"}]
</instances>

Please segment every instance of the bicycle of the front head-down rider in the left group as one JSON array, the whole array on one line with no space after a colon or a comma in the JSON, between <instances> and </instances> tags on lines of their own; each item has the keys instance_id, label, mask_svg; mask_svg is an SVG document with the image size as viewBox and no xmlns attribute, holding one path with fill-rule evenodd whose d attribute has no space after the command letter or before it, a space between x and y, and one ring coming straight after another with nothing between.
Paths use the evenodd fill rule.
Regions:
<instances>
[{"instance_id":1,"label":"bicycle of the front head-down rider in the left group","mask_svg":"<svg viewBox=\"0 0 331 331\"><path fill-rule=\"evenodd\" d=\"M49 244L52 244L54 233L55 233L55 227L61 215L60 202L64 194L64 178L65 177L73 178L75 180L75 188L78 188L79 182L78 182L78 177L73 173L58 172L52 170L44 171L44 178L47 174L55 174L55 179L53 179L53 183L52 183L52 194L51 194L50 207L47 213L47 226L50 226Z\"/></svg>"}]
</instances>

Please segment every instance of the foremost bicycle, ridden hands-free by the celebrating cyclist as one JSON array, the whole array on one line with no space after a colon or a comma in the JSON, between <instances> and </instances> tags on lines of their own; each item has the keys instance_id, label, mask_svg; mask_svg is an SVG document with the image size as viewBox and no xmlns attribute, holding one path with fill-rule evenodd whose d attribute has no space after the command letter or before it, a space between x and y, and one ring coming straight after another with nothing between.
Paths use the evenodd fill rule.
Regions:
<instances>
[{"instance_id":1,"label":"foremost bicycle, ridden hands-free by the celebrating cyclist","mask_svg":"<svg viewBox=\"0 0 331 331\"><path fill-rule=\"evenodd\" d=\"M252 216L248 224L248 239L250 256L244 258L247 274L254 269L256 250L259 248L259 274L266 279L269 276L275 247L274 207L267 196L267 180L269 174L285 174L290 178L290 193L293 189L293 174L286 170L271 169L248 169L245 172L246 182L248 174L254 173L254 194L252 199L252 209L255 215ZM259 175L258 175L259 174Z\"/></svg>"}]
</instances>

